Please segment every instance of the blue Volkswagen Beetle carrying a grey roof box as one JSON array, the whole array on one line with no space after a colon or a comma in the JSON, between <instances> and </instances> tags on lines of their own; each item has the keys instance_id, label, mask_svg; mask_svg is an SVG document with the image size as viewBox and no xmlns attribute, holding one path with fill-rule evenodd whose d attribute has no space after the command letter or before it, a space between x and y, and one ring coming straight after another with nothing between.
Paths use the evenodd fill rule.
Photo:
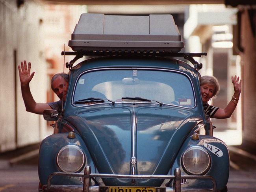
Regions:
<instances>
[{"instance_id":1,"label":"blue Volkswagen Beetle carrying a grey roof box","mask_svg":"<svg viewBox=\"0 0 256 192\"><path fill-rule=\"evenodd\" d=\"M100 23L98 17L115 26L102 15L83 14L69 42L74 52L63 52L76 56L66 64L69 89L62 113L46 110L44 114L46 120L58 119L58 133L40 146L39 191L226 191L228 148L213 137L200 94L198 70L202 65L193 59L206 54L179 53L180 42L159 39L168 36L165 32L157 34L158 38L153 34L150 46L145 46L144 40L151 37L141 35L136 40L136 34L136 42L131 42L134 34L129 31L112 36L76 31L86 19L94 19L91 25ZM156 20L157 28L166 27L159 20L171 17L154 16L148 19L150 24ZM136 23L145 16L127 17L136 17L132 18ZM114 21L118 19L127 20ZM108 25L104 23L105 31ZM118 45L121 38L125 41ZM95 57L73 66L83 55Z\"/></svg>"}]
</instances>

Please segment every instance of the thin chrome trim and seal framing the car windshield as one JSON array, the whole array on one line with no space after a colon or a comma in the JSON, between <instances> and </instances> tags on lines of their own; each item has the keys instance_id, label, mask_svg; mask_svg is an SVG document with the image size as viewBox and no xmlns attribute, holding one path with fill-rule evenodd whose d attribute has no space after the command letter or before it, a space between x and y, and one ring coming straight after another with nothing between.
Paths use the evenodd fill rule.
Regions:
<instances>
[{"instance_id":1,"label":"thin chrome trim and seal framing the car windshield","mask_svg":"<svg viewBox=\"0 0 256 192\"><path fill-rule=\"evenodd\" d=\"M191 81L191 78L184 72L181 72L181 71L178 71L178 70L174 70L174 69L166 69L166 68L144 68L144 67L106 67L106 68L95 68L95 69L89 69L89 70L86 70L84 72L82 72L77 78L76 78L76 82L75 82L75 86L74 86L74 89L72 91L72 100L71 100L71 104L74 106L74 107L87 107L87 106L92 106L92 105L102 105L104 103L107 103L107 102L104 102L104 103L96 103L96 104L91 104L91 105L75 105L74 104L74 93L75 93L75 90L76 90L76 85L78 83L78 79L80 79L80 77L85 74L85 73L89 73L89 72L93 72L93 71L100 71L100 70L158 70L158 71L169 71L169 72L175 72L175 73L180 73L180 74L183 74L185 75L188 79L189 79L189 82L191 84L191 87L192 87L192 91L193 91L193 98L194 98L194 101L195 101L195 105L193 107L182 107L182 106L179 106L179 105L171 105L171 104L167 104L167 103L163 103L164 105L168 105L168 106L175 106L175 107L180 107L180 108L184 108L184 109L194 109L196 106L197 106L197 100L195 98L195 88L193 86L193 83ZM160 101L161 102L161 101ZM109 102L110 103L110 102ZM123 103L123 102L116 102L116 103ZM126 103L126 102L125 102ZM127 102L128 103L128 102ZM136 103L136 102L131 102L131 103ZM144 102L146 103L146 102ZM159 104L159 103L158 103Z\"/></svg>"}]
</instances>

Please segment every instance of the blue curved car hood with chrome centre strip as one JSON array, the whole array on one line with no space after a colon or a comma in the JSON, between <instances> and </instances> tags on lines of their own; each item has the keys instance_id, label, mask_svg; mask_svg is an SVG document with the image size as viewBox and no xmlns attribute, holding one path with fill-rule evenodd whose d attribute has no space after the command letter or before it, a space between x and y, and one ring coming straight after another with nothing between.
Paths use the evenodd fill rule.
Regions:
<instances>
[{"instance_id":1,"label":"blue curved car hood with chrome centre strip","mask_svg":"<svg viewBox=\"0 0 256 192\"><path fill-rule=\"evenodd\" d=\"M68 117L82 135L98 172L132 174L134 170L135 175L167 174L200 119L186 109L152 105L81 107ZM128 181L118 182L126 185Z\"/></svg>"}]
</instances>

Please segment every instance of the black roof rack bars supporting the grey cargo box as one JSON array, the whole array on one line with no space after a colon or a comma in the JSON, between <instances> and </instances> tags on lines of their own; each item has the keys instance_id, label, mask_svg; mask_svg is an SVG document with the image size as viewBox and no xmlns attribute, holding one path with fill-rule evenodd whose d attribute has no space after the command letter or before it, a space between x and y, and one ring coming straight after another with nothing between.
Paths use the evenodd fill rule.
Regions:
<instances>
[{"instance_id":1,"label":"black roof rack bars supporting the grey cargo box","mask_svg":"<svg viewBox=\"0 0 256 192\"><path fill-rule=\"evenodd\" d=\"M202 55L207 55L207 53L168 53L168 52L159 52L159 51L81 51L81 52L61 52L61 55L76 55L69 63L66 63L66 67L69 70L72 68L73 64L83 56L160 56L160 57L184 57L190 61L195 70L202 68L202 63L195 61L193 57L201 57Z\"/></svg>"}]
</instances>

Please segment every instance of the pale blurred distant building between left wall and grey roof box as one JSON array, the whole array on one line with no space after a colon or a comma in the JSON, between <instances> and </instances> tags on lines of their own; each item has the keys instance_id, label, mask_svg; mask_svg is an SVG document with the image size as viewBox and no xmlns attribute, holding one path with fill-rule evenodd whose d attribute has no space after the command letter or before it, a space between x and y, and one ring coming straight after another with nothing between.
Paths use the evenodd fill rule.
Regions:
<instances>
[{"instance_id":1,"label":"pale blurred distant building between left wall and grey roof box","mask_svg":"<svg viewBox=\"0 0 256 192\"><path fill-rule=\"evenodd\" d=\"M44 56L48 62L48 74L63 72L63 56L61 51L72 51L68 46L71 34L82 13L87 12L85 5L44 5ZM66 55L65 62L74 56ZM65 67L65 72L69 70ZM55 97L55 99L57 99Z\"/></svg>"}]
</instances>

